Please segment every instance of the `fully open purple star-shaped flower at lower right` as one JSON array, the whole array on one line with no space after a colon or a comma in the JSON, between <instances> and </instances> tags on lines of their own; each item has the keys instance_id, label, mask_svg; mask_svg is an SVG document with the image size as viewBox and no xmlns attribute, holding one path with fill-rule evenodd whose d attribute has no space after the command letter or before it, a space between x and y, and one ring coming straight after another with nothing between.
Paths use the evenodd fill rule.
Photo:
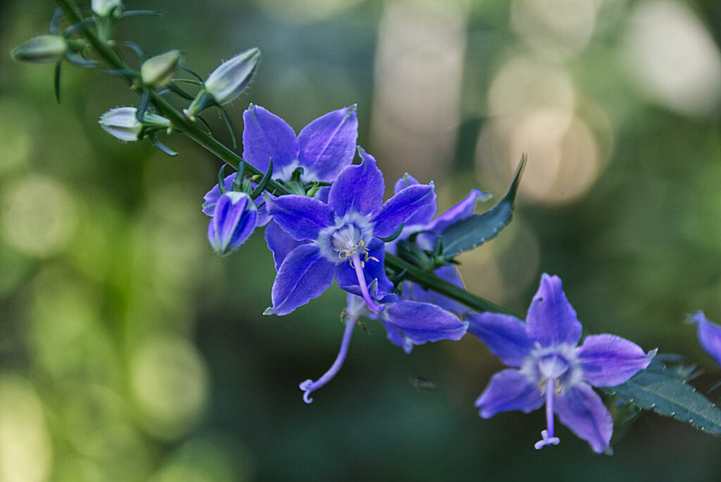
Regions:
<instances>
[{"instance_id":1,"label":"fully open purple star-shaped flower at lower right","mask_svg":"<svg viewBox=\"0 0 721 482\"><path fill-rule=\"evenodd\" d=\"M591 386L612 387L645 369L655 351L613 335L588 336L583 345L581 324L557 276L544 274L528 308L526 323L495 313L468 315L469 331L503 363L517 369L495 374L476 400L480 415L546 404L547 430L536 449L558 444L553 415L598 453L609 447L614 429L611 414Z\"/></svg>"}]
</instances>

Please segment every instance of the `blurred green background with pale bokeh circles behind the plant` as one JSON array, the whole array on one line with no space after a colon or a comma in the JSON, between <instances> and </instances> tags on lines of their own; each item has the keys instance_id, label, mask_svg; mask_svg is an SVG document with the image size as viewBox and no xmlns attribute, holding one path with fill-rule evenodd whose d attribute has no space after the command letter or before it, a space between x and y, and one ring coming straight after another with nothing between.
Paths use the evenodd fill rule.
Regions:
<instances>
[{"instance_id":1,"label":"blurred green background with pale bokeh circles behind the plant","mask_svg":"<svg viewBox=\"0 0 721 482\"><path fill-rule=\"evenodd\" d=\"M471 336L406 355L368 321L306 406L345 296L263 317L262 233L224 259L205 240L218 161L177 135L169 158L103 133L100 114L138 102L118 79L68 66L57 105L52 67L9 58L53 6L0 4L0 482L721 478L720 440L653 415L616 426L613 457L565 427L536 452L542 411L477 415L502 365ZM499 198L528 152L513 223L461 257L469 289L525 313L557 274L588 333L687 356L704 393L721 378L683 323L721 321L719 2L127 6L163 16L116 38L180 48L203 75L260 47L238 131L248 102L296 131L358 103L386 184L434 180L441 209L472 187Z\"/></svg>"}]
</instances>

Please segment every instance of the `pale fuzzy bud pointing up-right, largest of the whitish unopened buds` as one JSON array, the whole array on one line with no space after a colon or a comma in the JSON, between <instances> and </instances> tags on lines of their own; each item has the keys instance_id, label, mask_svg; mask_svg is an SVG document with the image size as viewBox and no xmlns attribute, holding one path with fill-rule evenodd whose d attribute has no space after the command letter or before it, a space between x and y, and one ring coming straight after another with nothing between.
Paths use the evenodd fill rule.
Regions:
<instances>
[{"instance_id":1,"label":"pale fuzzy bud pointing up-right, largest of the whitish unopened buds","mask_svg":"<svg viewBox=\"0 0 721 482\"><path fill-rule=\"evenodd\" d=\"M230 102L247 87L260 60L260 51L251 48L221 63L205 80L205 90L218 104Z\"/></svg>"}]
</instances>

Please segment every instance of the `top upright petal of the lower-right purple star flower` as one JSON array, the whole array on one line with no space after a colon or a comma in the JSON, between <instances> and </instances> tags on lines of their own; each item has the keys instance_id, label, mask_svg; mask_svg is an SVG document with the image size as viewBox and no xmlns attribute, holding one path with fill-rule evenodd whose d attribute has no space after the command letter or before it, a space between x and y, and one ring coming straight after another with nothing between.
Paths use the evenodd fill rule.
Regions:
<instances>
[{"instance_id":1,"label":"top upright petal of the lower-right purple star flower","mask_svg":"<svg viewBox=\"0 0 721 482\"><path fill-rule=\"evenodd\" d=\"M541 346L568 344L576 346L583 327L566 299L558 276L541 276L541 285L526 317L528 336Z\"/></svg>"}]
</instances>

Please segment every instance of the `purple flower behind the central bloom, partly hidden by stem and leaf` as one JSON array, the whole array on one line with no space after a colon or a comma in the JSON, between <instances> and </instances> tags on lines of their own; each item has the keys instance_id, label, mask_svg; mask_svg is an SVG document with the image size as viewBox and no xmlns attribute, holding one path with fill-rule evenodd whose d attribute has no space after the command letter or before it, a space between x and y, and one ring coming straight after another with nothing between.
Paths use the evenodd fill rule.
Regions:
<instances>
[{"instance_id":1,"label":"purple flower behind the central bloom, partly hidden by stem and leaf","mask_svg":"<svg viewBox=\"0 0 721 482\"><path fill-rule=\"evenodd\" d=\"M411 175L404 175L400 178L395 185L395 192L411 186L419 185L420 183L413 178ZM445 213L433 219L435 211L438 209L437 203L428 203L423 206L422 209L416 211L416 213L408 219L406 224L403 226L403 230L399 237L392 242L386 243L386 251L389 253L396 253L396 244L400 240L405 240L407 237L414 233L420 233L417 235L415 241L417 245L426 251L433 250L433 243L436 237L431 233L440 233L443 229L446 229L450 224L465 219L468 216L472 216L478 201L485 201L490 198L489 193L484 193L478 189L472 189L468 196L462 201L457 203L451 209L448 209ZM464 288L461 274L459 273L456 266L442 266L434 271L435 276L438 276L449 283L455 284L460 288ZM454 299L443 296L431 290L427 290L422 286L413 283L412 281L403 281L402 299L413 299L419 302L428 302L438 304L438 306L455 312L458 315L466 315L470 312L470 308L466 307L465 304L457 302Z\"/></svg>"}]
</instances>

